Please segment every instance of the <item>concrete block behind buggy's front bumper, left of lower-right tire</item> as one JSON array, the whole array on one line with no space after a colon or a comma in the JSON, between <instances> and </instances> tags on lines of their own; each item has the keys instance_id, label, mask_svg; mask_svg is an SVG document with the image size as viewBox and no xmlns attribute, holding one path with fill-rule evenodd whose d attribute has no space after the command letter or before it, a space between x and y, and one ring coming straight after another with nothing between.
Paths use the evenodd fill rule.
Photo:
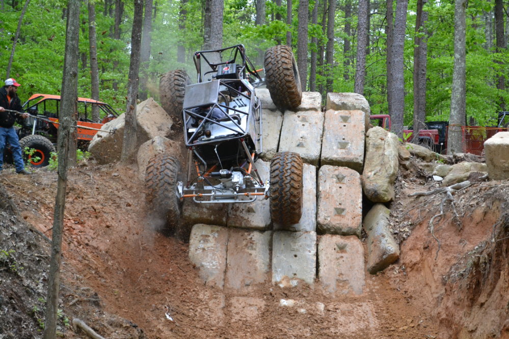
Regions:
<instances>
[{"instance_id":1,"label":"concrete block behind buggy's front bumper, left of lower-right tire","mask_svg":"<svg viewBox=\"0 0 509 339\"><path fill-rule=\"evenodd\" d=\"M270 177L270 163L257 160L256 169L263 181ZM253 203L228 204L228 227L267 230L271 225L270 201L258 196Z\"/></svg>"}]
</instances>

